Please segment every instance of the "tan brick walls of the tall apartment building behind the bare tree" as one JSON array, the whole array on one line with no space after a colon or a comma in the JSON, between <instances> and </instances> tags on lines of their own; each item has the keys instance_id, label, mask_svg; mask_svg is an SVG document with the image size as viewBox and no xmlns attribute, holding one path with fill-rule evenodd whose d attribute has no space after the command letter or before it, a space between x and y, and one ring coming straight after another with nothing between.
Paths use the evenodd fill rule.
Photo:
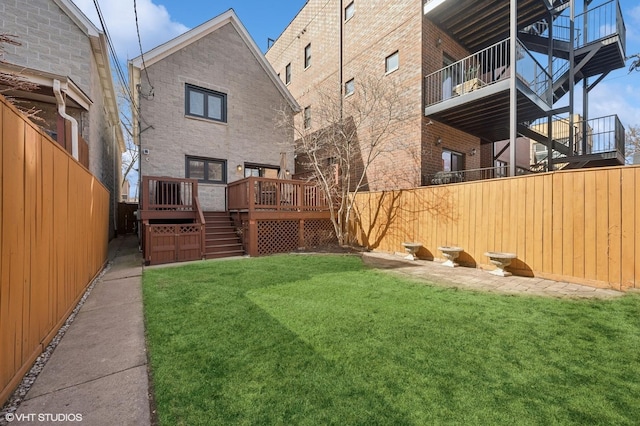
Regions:
<instances>
[{"instance_id":1,"label":"tan brick walls of the tall apartment building behind the bare tree","mask_svg":"<svg viewBox=\"0 0 640 426\"><path fill-rule=\"evenodd\" d=\"M349 2L344 0L342 6ZM289 89L301 107L312 107L313 129L322 123L313 120L318 92L330 90L340 96L339 52L340 25L344 25L343 82L365 75L380 78L393 86L401 101L400 129L386 141L391 148L372 164L367 173L369 189L409 188L421 184L426 173L442 170L442 149L465 154L467 168L480 165L479 140L445 125L427 125L423 116L423 76L442 68L442 52L455 58L467 53L451 39L443 36L443 47L436 49L437 28L423 17L422 1L371 0L355 3L354 16L343 22L339 0L309 0L296 18L267 52L267 59L281 78L291 63L292 80ZM431 41L433 40L433 41ZM312 46L312 64L304 69L304 48ZM385 58L399 54L398 70L385 75ZM301 120L301 117L297 117ZM367 152L367 135L361 136L361 151ZM435 146L438 136L446 144ZM469 156L472 148L478 154Z\"/></svg>"}]
</instances>

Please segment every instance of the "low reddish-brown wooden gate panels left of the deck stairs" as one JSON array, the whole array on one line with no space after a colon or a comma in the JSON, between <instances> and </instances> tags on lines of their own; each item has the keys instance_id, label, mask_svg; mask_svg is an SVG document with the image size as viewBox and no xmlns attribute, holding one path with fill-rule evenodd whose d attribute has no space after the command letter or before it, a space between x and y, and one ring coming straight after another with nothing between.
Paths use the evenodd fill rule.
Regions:
<instances>
[{"instance_id":1,"label":"low reddish-brown wooden gate panels left of the deck stairs","mask_svg":"<svg viewBox=\"0 0 640 426\"><path fill-rule=\"evenodd\" d=\"M199 223L145 225L146 260L150 265L200 260L203 233L204 225Z\"/></svg>"}]
</instances>

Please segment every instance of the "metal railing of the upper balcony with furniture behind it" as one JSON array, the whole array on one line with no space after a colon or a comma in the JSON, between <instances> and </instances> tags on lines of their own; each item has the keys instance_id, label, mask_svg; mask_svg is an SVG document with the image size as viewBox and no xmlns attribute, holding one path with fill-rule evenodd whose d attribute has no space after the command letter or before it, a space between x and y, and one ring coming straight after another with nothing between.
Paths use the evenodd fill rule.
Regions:
<instances>
[{"instance_id":1,"label":"metal railing of the upper balcony with furniture behind it","mask_svg":"<svg viewBox=\"0 0 640 426\"><path fill-rule=\"evenodd\" d=\"M509 39L444 67L425 77L425 107L508 79ZM520 41L517 43L516 75L540 99L550 104L551 76Z\"/></svg>"}]
</instances>

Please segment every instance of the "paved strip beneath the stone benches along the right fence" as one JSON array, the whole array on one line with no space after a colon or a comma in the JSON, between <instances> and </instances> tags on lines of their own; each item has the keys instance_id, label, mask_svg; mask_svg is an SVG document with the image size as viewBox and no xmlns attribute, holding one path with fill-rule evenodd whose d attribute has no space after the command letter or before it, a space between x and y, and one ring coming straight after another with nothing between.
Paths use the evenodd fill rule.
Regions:
<instances>
[{"instance_id":1,"label":"paved strip beneath the stone benches along the right fence","mask_svg":"<svg viewBox=\"0 0 640 426\"><path fill-rule=\"evenodd\" d=\"M623 292L594 288L567 282L530 277L499 277L477 268L451 268L438 261L406 260L403 255L367 252L362 260L373 267L393 271L404 276L422 279L448 287L475 289L509 294L526 294L562 298L611 298Z\"/></svg>"}]
</instances>

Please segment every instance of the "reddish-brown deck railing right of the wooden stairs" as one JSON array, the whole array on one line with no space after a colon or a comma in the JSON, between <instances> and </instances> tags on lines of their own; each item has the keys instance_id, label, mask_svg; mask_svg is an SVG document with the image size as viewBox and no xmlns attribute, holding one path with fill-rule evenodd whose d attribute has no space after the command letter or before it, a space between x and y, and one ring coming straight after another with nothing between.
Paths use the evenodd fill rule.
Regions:
<instances>
[{"instance_id":1,"label":"reddish-brown deck railing right of the wooden stairs","mask_svg":"<svg viewBox=\"0 0 640 426\"><path fill-rule=\"evenodd\" d=\"M324 192L314 185L290 179L249 177L228 185L228 209L320 211L328 210Z\"/></svg>"}]
</instances>

